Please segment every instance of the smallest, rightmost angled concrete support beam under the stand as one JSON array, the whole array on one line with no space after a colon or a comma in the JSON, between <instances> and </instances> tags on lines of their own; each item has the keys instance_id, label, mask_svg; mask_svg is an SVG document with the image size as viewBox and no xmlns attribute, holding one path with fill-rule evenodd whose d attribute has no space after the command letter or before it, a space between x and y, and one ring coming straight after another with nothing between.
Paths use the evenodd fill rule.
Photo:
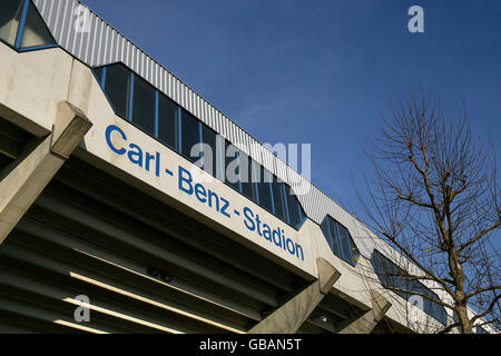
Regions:
<instances>
[{"instance_id":1,"label":"smallest, rightmost angled concrete support beam under the stand","mask_svg":"<svg viewBox=\"0 0 501 356\"><path fill-rule=\"evenodd\" d=\"M390 309L392 304L380 293L371 289L372 309L366 312L356 320L345 326L338 334L369 334L377 323L383 318L384 314Z\"/></svg>"}]
</instances>

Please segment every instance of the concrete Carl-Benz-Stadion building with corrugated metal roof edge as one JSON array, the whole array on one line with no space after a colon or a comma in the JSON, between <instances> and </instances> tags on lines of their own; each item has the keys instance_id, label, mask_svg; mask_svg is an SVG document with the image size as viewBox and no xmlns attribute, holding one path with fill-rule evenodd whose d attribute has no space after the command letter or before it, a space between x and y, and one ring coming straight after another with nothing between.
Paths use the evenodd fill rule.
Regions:
<instances>
[{"instance_id":1,"label":"concrete Carl-Benz-Stadion building with corrugated metal roof edge","mask_svg":"<svg viewBox=\"0 0 501 356\"><path fill-rule=\"evenodd\" d=\"M0 332L452 323L385 290L389 246L81 2L2 0L0 40Z\"/></svg>"}]
</instances>

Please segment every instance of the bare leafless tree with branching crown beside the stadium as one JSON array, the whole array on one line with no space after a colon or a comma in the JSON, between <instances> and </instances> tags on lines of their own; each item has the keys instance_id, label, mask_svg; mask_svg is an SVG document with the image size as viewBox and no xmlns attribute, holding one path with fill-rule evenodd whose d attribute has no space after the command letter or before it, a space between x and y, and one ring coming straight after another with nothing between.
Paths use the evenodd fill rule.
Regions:
<instances>
[{"instance_id":1,"label":"bare leafless tree with branching crown beside the stadium","mask_svg":"<svg viewBox=\"0 0 501 356\"><path fill-rule=\"evenodd\" d=\"M450 119L422 87L391 103L390 112L381 115L381 135L366 150L374 174L358 198L371 228L421 271L404 268L399 277L432 281L450 298L411 283L384 287L452 309L456 322L442 332L459 327L471 334L480 320L499 329L500 241L494 238L501 210L493 145L473 139L464 101Z\"/></svg>"}]
</instances>

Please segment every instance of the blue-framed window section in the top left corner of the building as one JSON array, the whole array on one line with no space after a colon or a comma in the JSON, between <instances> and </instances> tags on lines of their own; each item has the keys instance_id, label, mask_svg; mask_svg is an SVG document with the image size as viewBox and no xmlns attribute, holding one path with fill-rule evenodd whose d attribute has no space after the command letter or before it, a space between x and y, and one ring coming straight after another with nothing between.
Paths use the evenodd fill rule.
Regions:
<instances>
[{"instance_id":1,"label":"blue-framed window section in the top left corner of the building","mask_svg":"<svg viewBox=\"0 0 501 356\"><path fill-rule=\"evenodd\" d=\"M18 50L56 46L30 0L0 1L0 39Z\"/></svg>"}]
</instances>

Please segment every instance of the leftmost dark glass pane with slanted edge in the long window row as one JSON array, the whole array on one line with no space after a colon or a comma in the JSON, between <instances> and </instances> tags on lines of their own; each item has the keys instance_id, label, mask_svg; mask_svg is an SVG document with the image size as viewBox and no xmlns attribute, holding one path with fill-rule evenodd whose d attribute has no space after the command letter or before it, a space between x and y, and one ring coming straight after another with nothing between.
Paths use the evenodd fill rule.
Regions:
<instances>
[{"instance_id":1,"label":"leftmost dark glass pane with slanted edge in the long window row","mask_svg":"<svg viewBox=\"0 0 501 356\"><path fill-rule=\"evenodd\" d=\"M127 119L129 102L130 71L122 65L106 68L105 91L115 112Z\"/></svg>"}]
</instances>

